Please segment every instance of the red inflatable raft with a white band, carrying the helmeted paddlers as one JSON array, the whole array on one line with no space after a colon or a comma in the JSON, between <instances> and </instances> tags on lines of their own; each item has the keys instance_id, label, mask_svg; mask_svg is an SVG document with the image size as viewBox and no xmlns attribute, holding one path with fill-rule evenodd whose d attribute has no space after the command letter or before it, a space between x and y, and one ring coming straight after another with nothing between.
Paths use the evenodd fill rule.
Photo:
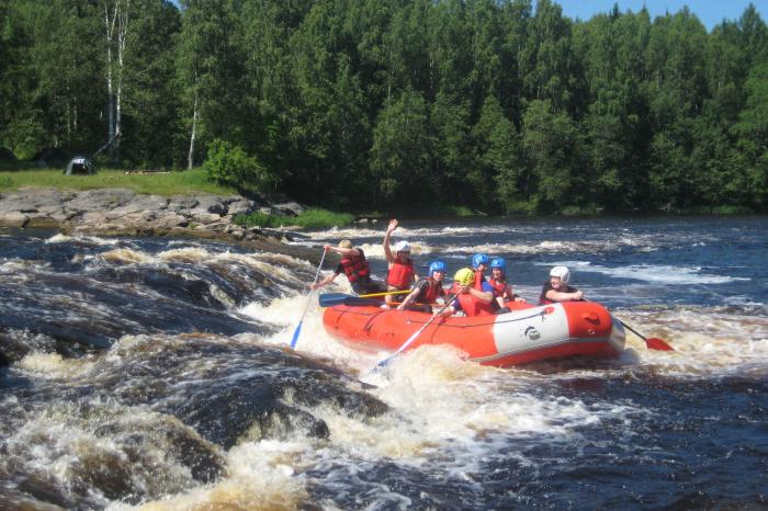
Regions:
<instances>
[{"instance_id":1,"label":"red inflatable raft with a white band, carrying the helmeted paddlers","mask_svg":"<svg viewBox=\"0 0 768 511\"><path fill-rule=\"evenodd\" d=\"M617 357L624 349L621 322L595 302L515 306L526 308L498 316L438 318L408 349L450 344L473 361L498 367L573 356ZM396 351L430 318L370 305L334 305L326 308L323 323L330 336L354 347Z\"/></svg>"}]
</instances>

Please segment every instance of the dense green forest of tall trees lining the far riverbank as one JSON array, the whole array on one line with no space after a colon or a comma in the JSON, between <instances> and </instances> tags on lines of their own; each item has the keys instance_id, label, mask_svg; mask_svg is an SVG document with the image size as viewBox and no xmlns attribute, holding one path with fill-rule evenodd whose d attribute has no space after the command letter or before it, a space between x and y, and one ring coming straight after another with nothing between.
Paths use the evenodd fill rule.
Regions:
<instances>
[{"instance_id":1,"label":"dense green forest of tall trees lining the far riverbank","mask_svg":"<svg viewBox=\"0 0 768 511\"><path fill-rule=\"evenodd\" d=\"M0 0L0 147L341 209L765 212L754 5L572 20L550 0Z\"/></svg>"}]
</instances>

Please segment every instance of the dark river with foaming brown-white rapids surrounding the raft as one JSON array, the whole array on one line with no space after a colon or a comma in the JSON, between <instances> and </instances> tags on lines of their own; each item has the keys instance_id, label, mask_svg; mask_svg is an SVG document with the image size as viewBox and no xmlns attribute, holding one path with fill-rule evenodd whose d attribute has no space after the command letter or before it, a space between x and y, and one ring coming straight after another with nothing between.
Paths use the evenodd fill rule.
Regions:
<instances>
[{"instance_id":1,"label":"dark river with foaming brown-white rapids surrounding the raft","mask_svg":"<svg viewBox=\"0 0 768 511\"><path fill-rule=\"evenodd\" d=\"M502 256L535 300L565 264L676 350L507 370L325 333L321 245L381 279L384 223L314 261L0 230L0 509L767 509L767 219L402 222L421 274Z\"/></svg>"}]
</instances>

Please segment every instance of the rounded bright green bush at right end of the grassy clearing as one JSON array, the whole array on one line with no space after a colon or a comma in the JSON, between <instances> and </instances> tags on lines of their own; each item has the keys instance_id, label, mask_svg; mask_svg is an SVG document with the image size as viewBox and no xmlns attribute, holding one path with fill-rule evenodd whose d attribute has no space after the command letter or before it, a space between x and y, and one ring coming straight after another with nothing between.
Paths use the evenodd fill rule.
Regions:
<instances>
[{"instance_id":1,"label":"rounded bright green bush at right end of the grassy clearing","mask_svg":"<svg viewBox=\"0 0 768 511\"><path fill-rule=\"evenodd\" d=\"M215 138L208 144L208 157L203 164L205 175L217 184L268 190L272 184L267 170L256 160L246 155L239 146L233 146L226 140Z\"/></svg>"}]
</instances>

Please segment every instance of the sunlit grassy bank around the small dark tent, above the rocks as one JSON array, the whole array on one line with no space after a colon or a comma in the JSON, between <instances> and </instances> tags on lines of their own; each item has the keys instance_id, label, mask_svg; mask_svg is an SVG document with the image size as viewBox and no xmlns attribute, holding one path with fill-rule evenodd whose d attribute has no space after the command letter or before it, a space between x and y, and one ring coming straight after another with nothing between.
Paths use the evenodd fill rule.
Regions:
<instances>
[{"instance_id":1,"label":"sunlit grassy bank around the small dark tent, above the rocks","mask_svg":"<svg viewBox=\"0 0 768 511\"><path fill-rule=\"evenodd\" d=\"M64 175L61 169L22 169L0 171L0 192L13 192L23 186L45 186L60 190L94 190L125 188L136 193L155 195L189 195L195 192L233 195L237 191L205 179L203 169L183 172L125 173L124 170L99 169L94 175Z\"/></svg>"}]
</instances>

